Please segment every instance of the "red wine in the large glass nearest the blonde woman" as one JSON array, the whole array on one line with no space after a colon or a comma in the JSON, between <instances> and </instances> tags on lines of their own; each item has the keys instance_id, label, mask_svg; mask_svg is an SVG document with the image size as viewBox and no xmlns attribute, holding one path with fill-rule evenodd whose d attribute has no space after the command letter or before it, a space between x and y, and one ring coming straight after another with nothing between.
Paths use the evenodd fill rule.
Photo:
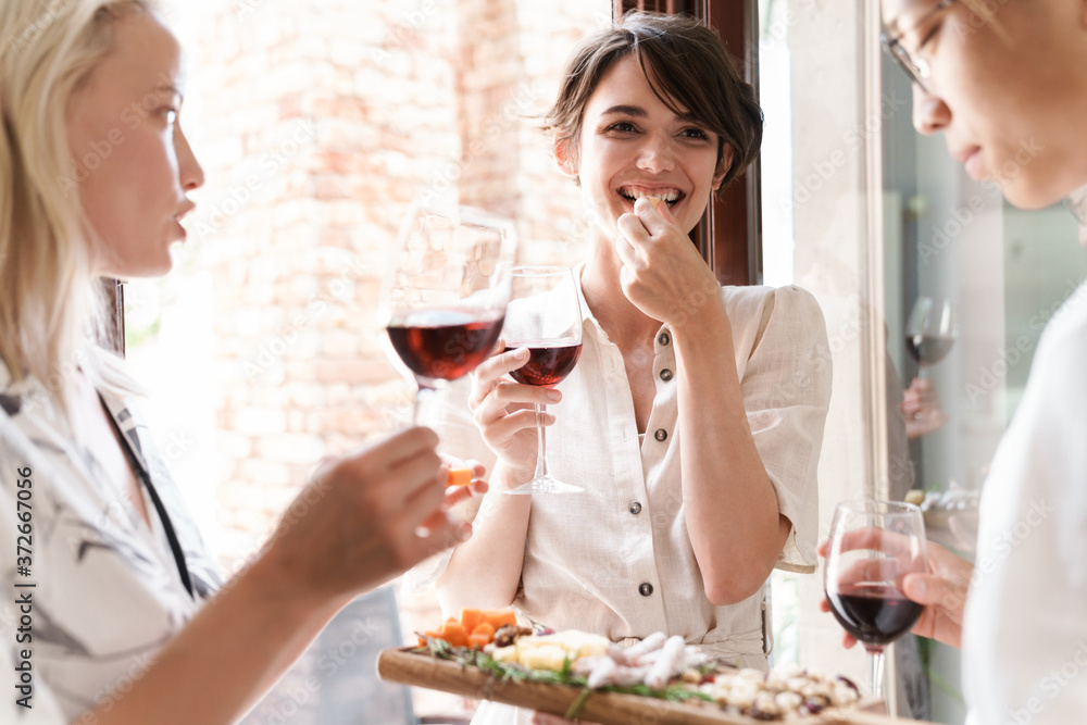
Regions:
<instances>
[{"instance_id":1,"label":"red wine in the large glass nearest the blonde woman","mask_svg":"<svg viewBox=\"0 0 1087 725\"><path fill-rule=\"evenodd\" d=\"M420 378L455 380L487 359L502 332L501 312L427 310L387 327L400 360Z\"/></svg>"}]
</instances>

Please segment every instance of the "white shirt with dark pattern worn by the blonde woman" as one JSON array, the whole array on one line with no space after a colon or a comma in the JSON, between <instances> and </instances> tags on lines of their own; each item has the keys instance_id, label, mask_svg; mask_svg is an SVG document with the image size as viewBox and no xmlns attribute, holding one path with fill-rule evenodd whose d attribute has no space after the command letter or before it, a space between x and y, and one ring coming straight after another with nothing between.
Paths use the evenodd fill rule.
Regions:
<instances>
[{"instance_id":1,"label":"white shirt with dark pattern worn by the blonde woman","mask_svg":"<svg viewBox=\"0 0 1087 725\"><path fill-rule=\"evenodd\" d=\"M0 364L3 723L67 723L108 703L142 676L154 653L221 580L135 409L110 396L105 400L170 514L196 598L182 585L146 491L151 528L125 495L125 483L104 475L98 453L71 434L41 384L35 378L13 384ZM24 480L29 485L21 486ZM30 521L20 521L20 513L28 513ZM21 561L17 557L26 554L16 549L17 527L26 523L30 554ZM28 575L20 572L22 565ZM25 597L30 598L25 612L30 624L20 630L24 612L15 602ZM30 639L23 639L26 635ZM29 710L15 703L14 667L25 661L23 650L29 652L34 676Z\"/></svg>"}]
</instances>

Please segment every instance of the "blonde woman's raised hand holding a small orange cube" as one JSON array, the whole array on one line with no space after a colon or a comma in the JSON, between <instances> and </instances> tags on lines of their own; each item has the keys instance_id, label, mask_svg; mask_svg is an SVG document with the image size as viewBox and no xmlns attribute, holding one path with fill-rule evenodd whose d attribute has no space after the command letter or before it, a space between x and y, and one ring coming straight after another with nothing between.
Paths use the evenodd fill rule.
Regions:
<instances>
[{"instance_id":1,"label":"blonde woman's raised hand holding a small orange cube","mask_svg":"<svg viewBox=\"0 0 1087 725\"><path fill-rule=\"evenodd\" d=\"M263 564L315 605L373 589L468 535L445 513L437 435L411 428L323 462L284 513ZM463 492L459 493L464 496Z\"/></svg>"}]
</instances>

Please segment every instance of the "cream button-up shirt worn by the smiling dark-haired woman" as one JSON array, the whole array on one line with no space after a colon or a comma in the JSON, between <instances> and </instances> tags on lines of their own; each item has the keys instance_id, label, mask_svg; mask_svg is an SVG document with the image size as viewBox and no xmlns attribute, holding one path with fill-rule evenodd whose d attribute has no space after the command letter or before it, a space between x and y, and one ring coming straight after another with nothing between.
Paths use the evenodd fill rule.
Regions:
<instances>
[{"instance_id":1,"label":"cream button-up shirt worn by the smiling dark-haired woman","mask_svg":"<svg viewBox=\"0 0 1087 725\"><path fill-rule=\"evenodd\" d=\"M815 472L830 397L822 312L810 293L795 286L725 287L721 295L736 351L735 360L722 364L739 373L755 446L779 510L794 525L777 566L812 572ZM523 588L514 605L555 629L583 629L616 641L653 632L678 634L714 655L766 668L763 591L729 607L712 604L687 535L670 330L662 326L654 343L657 396L639 445L622 354L584 296L580 301L582 355L558 386L563 400L549 408L557 422L547 429L547 442L552 475L585 492L533 496ZM443 451L476 458L490 470L495 457L467 410L467 387L447 389L425 423L439 432ZM447 562L448 554L424 563L405 584L416 589L429 584Z\"/></svg>"}]
</instances>

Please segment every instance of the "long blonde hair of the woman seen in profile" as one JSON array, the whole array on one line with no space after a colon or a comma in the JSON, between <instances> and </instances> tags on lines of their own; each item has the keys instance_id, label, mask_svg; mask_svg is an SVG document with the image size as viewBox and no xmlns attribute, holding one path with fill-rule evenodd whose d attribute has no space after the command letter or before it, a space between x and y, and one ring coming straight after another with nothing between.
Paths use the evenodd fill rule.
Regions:
<instances>
[{"instance_id":1,"label":"long blonde hair of the woman seen in profile","mask_svg":"<svg viewBox=\"0 0 1087 725\"><path fill-rule=\"evenodd\" d=\"M153 0L0 2L0 361L38 378L62 414L79 368L98 387L138 386L98 354L109 322L91 272L93 232L68 179L68 101L113 45L113 24Z\"/></svg>"}]
</instances>

